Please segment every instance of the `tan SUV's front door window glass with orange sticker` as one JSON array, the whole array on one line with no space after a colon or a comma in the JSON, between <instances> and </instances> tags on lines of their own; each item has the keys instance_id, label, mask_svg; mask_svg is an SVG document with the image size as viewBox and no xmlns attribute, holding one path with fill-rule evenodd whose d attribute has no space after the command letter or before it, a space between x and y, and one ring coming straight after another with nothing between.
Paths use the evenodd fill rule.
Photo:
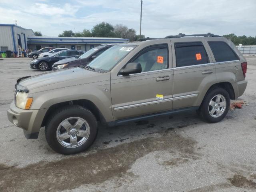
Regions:
<instances>
[{"instance_id":1,"label":"tan SUV's front door window glass with orange sticker","mask_svg":"<svg viewBox=\"0 0 256 192\"><path fill-rule=\"evenodd\" d=\"M140 63L142 72L168 68L168 45L151 46L144 49L132 62Z\"/></svg>"}]
</instances>

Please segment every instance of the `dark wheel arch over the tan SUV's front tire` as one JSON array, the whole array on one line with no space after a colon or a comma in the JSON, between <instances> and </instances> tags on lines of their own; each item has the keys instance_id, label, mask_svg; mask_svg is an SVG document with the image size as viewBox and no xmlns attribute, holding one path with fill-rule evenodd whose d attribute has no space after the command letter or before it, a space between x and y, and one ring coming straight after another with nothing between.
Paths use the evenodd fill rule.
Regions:
<instances>
[{"instance_id":1,"label":"dark wheel arch over the tan SUV's front tire","mask_svg":"<svg viewBox=\"0 0 256 192\"><path fill-rule=\"evenodd\" d=\"M85 108L87 108L88 110L90 110L92 112L92 114L94 114L94 116L96 117L96 119L98 121L100 121L101 123L106 123L106 120L104 118L104 116L102 115L102 113L100 112L100 110L98 109L98 107L90 100L86 100L86 99L80 99L80 100L70 100L70 101L66 101L66 102L60 102L60 103L56 103L53 104L52 106L50 106L50 108L48 108L41 127L45 126L47 119L59 108L62 108L64 106L68 106L68 105L80 105L83 106Z\"/></svg>"}]
</instances>

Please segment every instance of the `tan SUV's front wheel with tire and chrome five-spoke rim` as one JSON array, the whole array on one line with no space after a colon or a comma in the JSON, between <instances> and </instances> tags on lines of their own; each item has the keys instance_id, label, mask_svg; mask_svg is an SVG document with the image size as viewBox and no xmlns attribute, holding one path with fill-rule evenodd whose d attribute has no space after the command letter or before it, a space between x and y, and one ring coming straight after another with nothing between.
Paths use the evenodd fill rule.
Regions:
<instances>
[{"instance_id":1,"label":"tan SUV's front wheel with tire and chrome five-spoke rim","mask_svg":"<svg viewBox=\"0 0 256 192\"><path fill-rule=\"evenodd\" d=\"M95 116L78 105L57 110L45 126L49 146L60 154L75 154L88 149L96 139L97 132Z\"/></svg>"}]
</instances>

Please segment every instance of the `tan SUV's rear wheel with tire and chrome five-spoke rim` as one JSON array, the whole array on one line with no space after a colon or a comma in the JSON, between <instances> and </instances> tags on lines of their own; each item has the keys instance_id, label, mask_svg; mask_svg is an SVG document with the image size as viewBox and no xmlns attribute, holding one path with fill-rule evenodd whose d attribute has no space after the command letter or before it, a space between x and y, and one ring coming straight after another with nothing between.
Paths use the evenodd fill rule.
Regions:
<instances>
[{"instance_id":1,"label":"tan SUV's rear wheel with tire and chrome five-spoke rim","mask_svg":"<svg viewBox=\"0 0 256 192\"><path fill-rule=\"evenodd\" d=\"M204 96L198 110L199 115L209 123L220 122L228 113L230 97L223 88L213 88Z\"/></svg>"}]
</instances>

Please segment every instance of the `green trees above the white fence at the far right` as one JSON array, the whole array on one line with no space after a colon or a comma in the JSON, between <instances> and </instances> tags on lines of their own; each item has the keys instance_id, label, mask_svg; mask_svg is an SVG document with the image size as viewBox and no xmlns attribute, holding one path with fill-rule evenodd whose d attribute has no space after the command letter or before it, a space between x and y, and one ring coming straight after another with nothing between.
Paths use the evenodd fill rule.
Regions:
<instances>
[{"instance_id":1,"label":"green trees above the white fence at the far right","mask_svg":"<svg viewBox=\"0 0 256 192\"><path fill-rule=\"evenodd\" d=\"M223 35L223 37L229 38L235 45L256 45L256 36L255 37L247 37L243 36L236 36L234 33Z\"/></svg>"}]
</instances>

